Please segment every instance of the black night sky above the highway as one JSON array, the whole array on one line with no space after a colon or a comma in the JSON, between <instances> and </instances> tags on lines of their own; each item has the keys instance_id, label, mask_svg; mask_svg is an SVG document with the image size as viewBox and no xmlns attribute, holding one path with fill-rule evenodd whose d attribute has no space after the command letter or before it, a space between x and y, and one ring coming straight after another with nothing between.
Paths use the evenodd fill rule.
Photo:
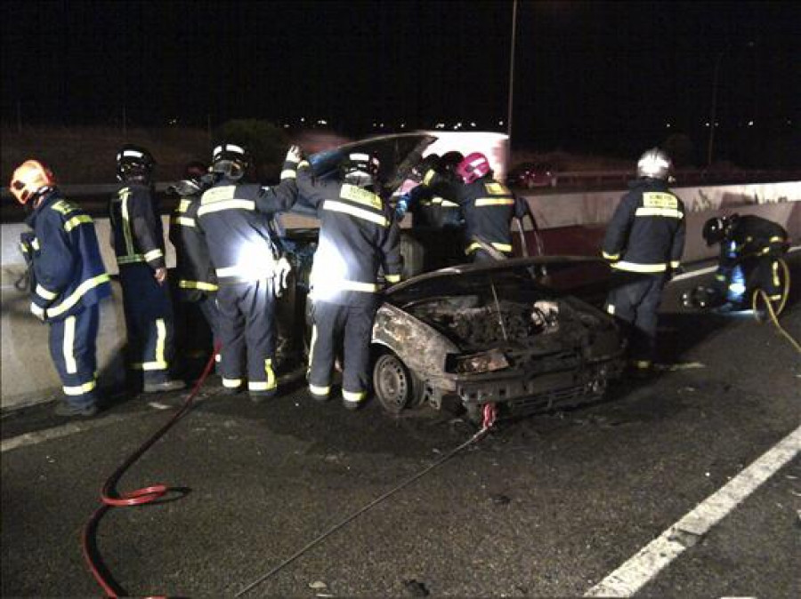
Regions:
<instances>
[{"instance_id":1,"label":"black night sky above the highway","mask_svg":"<svg viewBox=\"0 0 801 599\"><path fill-rule=\"evenodd\" d=\"M506 131L512 5L7 0L2 118ZM721 143L781 140L787 153L799 24L789 2L520 2L514 144L629 151L671 132L700 144L719 60Z\"/></svg>"}]
</instances>

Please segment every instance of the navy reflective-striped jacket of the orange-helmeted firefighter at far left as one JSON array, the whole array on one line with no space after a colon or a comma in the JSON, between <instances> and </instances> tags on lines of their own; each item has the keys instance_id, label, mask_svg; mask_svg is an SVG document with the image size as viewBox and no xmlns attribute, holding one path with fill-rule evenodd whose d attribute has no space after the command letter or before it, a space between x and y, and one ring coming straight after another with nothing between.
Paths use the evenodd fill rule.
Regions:
<instances>
[{"instance_id":1,"label":"navy reflective-striped jacket of the orange-helmeted firefighter at far left","mask_svg":"<svg viewBox=\"0 0 801 599\"><path fill-rule=\"evenodd\" d=\"M44 192L26 223L31 273L36 280L31 312L42 319L63 320L111 295L92 218L61 197Z\"/></svg>"}]
</instances>

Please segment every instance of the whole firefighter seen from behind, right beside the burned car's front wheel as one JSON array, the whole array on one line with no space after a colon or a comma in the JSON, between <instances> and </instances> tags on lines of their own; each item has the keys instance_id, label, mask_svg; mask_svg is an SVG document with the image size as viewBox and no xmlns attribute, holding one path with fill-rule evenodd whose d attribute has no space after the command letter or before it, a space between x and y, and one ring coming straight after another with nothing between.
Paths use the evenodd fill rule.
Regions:
<instances>
[{"instance_id":1,"label":"whole firefighter seen from behind, right beside the burned car's front wheel","mask_svg":"<svg viewBox=\"0 0 801 599\"><path fill-rule=\"evenodd\" d=\"M374 189L380 188L375 156L352 153L344 160L342 180L318 180L309 163L297 171L298 193L317 209L320 243L311 275L313 301L309 390L326 401L337 342L344 344L342 400L356 410L370 388L369 348L378 307L378 269L387 283L401 280L399 228L392 211Z\"/></svg>"}]
</instances>

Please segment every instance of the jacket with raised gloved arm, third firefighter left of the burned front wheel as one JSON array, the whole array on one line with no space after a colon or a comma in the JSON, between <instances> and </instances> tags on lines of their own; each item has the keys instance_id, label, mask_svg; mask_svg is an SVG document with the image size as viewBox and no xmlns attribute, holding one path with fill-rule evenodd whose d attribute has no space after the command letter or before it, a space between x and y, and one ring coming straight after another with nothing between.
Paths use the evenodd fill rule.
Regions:
<instances>
[{"instance_id":1,"label":"jacket with raised gloved arm, third firefighter left of the burned front wheel","mask_svg":"<svg viewBox=\"0 0 801 599\"><path fill-rule=\"evenodd\" d=\"M297 199L295 170L287 162L275 187L243 184L223 177L200 197L197 220L218 284L272 278L280 258L279 240L271 235L276 212L289 210Z\"/></svg>"}]
</instances>

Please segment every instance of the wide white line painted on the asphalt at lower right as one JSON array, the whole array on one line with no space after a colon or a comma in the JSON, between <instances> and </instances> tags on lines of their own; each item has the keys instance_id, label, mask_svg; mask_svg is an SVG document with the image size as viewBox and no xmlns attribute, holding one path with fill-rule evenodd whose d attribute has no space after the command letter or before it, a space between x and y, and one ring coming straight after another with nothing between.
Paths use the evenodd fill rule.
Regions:
<instances>
[{"instance_id":1,"label":"wide white line painted on the asphalt at lower right","mask_svg":"<svg viewBox=\"0 0 801 599\"><path fill-rule=\"evenodd\" d=\"M728 515L748 495L794 459L801 451L801 427L784 437L729 483L702 501L689 514L662 532L626 563L590 588L586 597L634 595L687 547Z\"/></svg>"}]
</instances>

